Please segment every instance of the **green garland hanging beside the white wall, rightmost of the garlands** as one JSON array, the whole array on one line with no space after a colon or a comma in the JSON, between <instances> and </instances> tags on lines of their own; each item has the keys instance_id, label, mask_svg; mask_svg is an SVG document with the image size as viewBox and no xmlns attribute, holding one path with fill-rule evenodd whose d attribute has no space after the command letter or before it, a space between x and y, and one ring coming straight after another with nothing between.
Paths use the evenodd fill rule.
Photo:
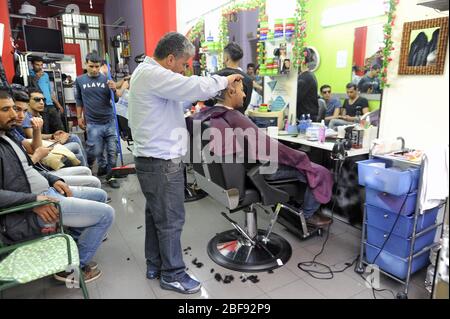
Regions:
<instances>
[{"instance_id":1,"label":"green garland hanging beside the white wall, rightmost of the garlands","mask_svg":"<svg viewBox=\"0 0 450 319\"><path fill-rule=\"evenodd\" d=\"M394 29L397 19L396 12L397 6L400 0L386 0L386 4L389 5L389 11L387 14L387 22L384 25L384 48L383 50L383 65L380 73L381 89L390 87L388 79L388 68L392 62L392 52L395 50L394 41L392 40L392 30Z\"/></svg>"}]
</instances>

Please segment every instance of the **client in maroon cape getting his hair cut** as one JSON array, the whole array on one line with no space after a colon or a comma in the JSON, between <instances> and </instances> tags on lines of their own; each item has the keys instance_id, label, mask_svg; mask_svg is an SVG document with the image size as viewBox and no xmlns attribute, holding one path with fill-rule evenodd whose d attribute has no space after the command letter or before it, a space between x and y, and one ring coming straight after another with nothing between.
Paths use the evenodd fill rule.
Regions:
<instances>
[{"instance_id":1,"label":"client in maroon cape getting his hair cut","mask_svg":"<svg viewBox=\"0 0 450 319\"><path fill-rule=\"evenodd\" d=\"M227 74L221 74L226 76ZM230 75L230 74L228 74ZM300 151L291 149L278 141L271 139L264 134L258 127L245 115L237 111L237 109L243 106L245 99L245 93L242 81L236 82L232 87L221 92L217 98L218 102L215 106L205 109L204 111L196 114L193 117L193 121L210 121L210 128L218 129L222 136L225 135L225 129L232 128L234 130L234 139L239 139L239 134L244 133L248 129L254 130L256 135L256 145L252 145L250 140L245 136L247 141L249 160L255 161L267 161L267 155L260 154L258 147L261 145L261 141L266 143L270 148L269 150L278 150L278 171L271 175L266 175L265 178L268 181L286 180L286 179L298 179L302 183L306 183L306 191L303 201L303 213L307 220L307 223L315 227L324 227L331 224L331 219L318 213L321 204L327 204L331 200L333 178L329 170L326 168L310 162L308 156ZM188 125L189 129L192 129ZM242 129L242 130L236 130ZM193 132L190 132L193 134ZM224 139L221 139L222 141ZM227 148L224 142L222 145L214 145L214 140L211 141L210 146L214 148L213 153L224 155L224 149ZM238 143L233 143L236 150L233 150L236 154L239 153ZM229 155L229 154L228 154ZM251 158L256 155L257 158Z\"/></svg>"}]
</instances>

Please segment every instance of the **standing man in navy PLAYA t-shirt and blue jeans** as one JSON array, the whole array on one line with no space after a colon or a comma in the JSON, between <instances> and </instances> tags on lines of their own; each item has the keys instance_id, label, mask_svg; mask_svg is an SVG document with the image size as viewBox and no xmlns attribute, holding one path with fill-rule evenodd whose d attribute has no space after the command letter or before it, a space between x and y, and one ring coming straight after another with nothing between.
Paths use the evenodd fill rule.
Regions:
<instances>
[{"instance_id":1,"label":"standing man in navy PLAYA t-shirt and blue jeans","mask_svg":"<svg viewBox=\"0 0 450 319\"><path fill-rule=\"evenodd\" d=\"M87 73L75 82L78 125L87 130L88 165L91 167L97 160L97 175L106 174L109 186L120 188L119 182L112 176L117 161L117 133L110 89L116 93L116 84L100 73L101 63L96 53L88 54ZM117 94L114 98L116 102L119 100ZM103 156L105 151L106 160Z\"/></svg>"}]
</instances>

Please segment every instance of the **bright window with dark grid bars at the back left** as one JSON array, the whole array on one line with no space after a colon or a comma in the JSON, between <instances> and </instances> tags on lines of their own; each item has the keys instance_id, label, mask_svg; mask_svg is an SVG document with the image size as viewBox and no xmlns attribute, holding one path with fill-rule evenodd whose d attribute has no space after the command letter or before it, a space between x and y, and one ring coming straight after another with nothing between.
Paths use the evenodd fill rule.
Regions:
<instances>
[{"instance_id":1,"label":"bright window with dark grid bars at the back left","mask_svg":"<svg viewBox=\"0 0 450 319\"><path fill-rule=\"evenodd\" d=\"M81 56L84 57L96 50L100 56L104 54L102 18L99 15L64 14L63 32L64 42L78 43ZM80 23L87 24L87 32L80 32Z\"/></svg>"}]
</instances>

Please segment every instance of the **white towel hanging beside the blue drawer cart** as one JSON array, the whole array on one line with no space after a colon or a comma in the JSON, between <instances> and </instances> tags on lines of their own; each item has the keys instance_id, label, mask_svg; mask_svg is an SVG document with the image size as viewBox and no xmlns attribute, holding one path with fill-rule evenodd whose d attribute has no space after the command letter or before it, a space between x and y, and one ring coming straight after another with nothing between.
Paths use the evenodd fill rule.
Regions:
<instances>
[{"instance_id":1,"label":"white towel hanging beside the blue drawer cart","mask_svg":"<svg viewBox=\"0 0 450 319\"><path fill-rule=\"evenodd\" d=\"M420 196L422 211L435 208L448 197L449 162L448 145L432 146L423 158L423 183Z\"/></svg>"}]
</instances>

